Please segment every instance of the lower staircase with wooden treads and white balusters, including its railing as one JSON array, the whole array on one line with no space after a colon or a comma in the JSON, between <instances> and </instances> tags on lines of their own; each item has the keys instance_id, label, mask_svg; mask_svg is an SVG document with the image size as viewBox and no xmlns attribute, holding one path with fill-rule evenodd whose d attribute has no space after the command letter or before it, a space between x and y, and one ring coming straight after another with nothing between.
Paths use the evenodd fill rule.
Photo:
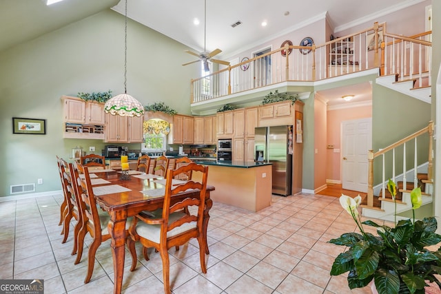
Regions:
<instances>
[{"instance_id":1,"label":"lower staircase with wooden treads and white balusters, including its railing","mask_svg":"<svg viewBox=\"0 0 441 294\"><path fill-rule=\"evenodd\" d=\"M424 134L429 135L429 150L425 150L424 154L427 154L428 161L423 165L417 166L417 160L415 158L413 162L413 167L411 169L407 169L409 165L406 163L407 151L406 145L413 144L415 145L415 150L418 151L418 140L424 140L421 137ZM424 144L422 144L424 145ZM403 158L402 158L402 167L398 167L396 165L396 149L402 148ZM433 158L432 158L432 149L433 149L433 122L429 122L427 127L421 129L420 131L399 140L392 145L381 149L380 151L373 152L369 151L368 160L369 160L369 179L368 179L368 191L367 191L367 199L362 202L362 215L369 218L379 218L382 220L394 220L394 214L402 213L404 211L409 211L412 209L411 203L411 191L414 187L421 187L422 191L422 205L429 204L433 202L433 182L432 182L432 169L433 169ZM421 152L421 151L420 151ZM388 162L385 160L384 154L391 155L391 160ZM381 157L380 157L381 156ZM378 158L380 157L380 158ZM374 158L378 158L382 160L377 160L377 164L382 164L382 180L380 185L377 185L373 188L373 160ZM385 167L387 165L392 165L393 171L391 175L386 177L385 175ZM402 168L406 172L403 174L396 176L395 170L398 168ZM394 202L391 194L387 191L387 180L393 180L397 184L397 195L396 201ZM409 180L411 179L411 180ZM374 190L376 193L374 193ZM374 196L375 194L375 196Z\"/></svg>"}]
</instances>

